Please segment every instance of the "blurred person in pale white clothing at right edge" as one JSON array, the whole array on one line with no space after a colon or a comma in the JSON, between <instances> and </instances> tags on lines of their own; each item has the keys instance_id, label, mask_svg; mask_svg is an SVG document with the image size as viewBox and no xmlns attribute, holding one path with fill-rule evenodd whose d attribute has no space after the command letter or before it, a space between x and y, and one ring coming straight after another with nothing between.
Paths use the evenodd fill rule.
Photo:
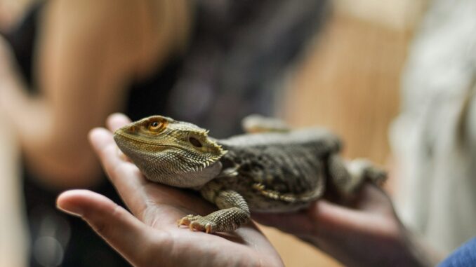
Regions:
<instances>
[{"instance_id":1,"label":"blurred person in pale white clothing at right edge","mask_svg":"<svg viewBox=\"0 0 476 267\"><path fill-rule=\"evenodd\" d=\"M390 141L402 221L448 254L476 235L476 1L428 2Z\"/></svg>"}]
</instances>

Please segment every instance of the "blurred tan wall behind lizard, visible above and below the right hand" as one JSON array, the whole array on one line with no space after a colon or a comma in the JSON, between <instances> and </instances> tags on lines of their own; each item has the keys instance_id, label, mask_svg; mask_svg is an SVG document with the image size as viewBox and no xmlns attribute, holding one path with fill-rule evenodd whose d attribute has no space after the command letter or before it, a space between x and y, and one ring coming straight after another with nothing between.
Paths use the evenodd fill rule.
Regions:
<instances>
[{"instance_id":1,"label":"blurred tan wall behind lizard, visible above and below the right hand","mask_svg":"<svg viewBox=\"0 0 476 267\"><path fill-rule=\"evenodd\" d=\"M291 125L322 125L345 140L348 158L385 164L399 106L409 29L335 11L289 81L281 111ZM314 247L264 228L286 266L340 266Z\"/></svg>"}]
</instances>

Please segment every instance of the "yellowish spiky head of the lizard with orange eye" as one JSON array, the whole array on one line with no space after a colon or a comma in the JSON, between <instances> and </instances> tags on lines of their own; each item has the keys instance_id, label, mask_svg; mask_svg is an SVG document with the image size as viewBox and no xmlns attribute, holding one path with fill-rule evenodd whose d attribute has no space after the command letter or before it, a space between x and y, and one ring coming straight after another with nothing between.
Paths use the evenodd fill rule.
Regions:
<instances>
[{"instance_id":1,"label":"yellowish spiky head of the lizard with orange eye","mask_svg":"<svg viewBox=\"0 0 476 267\"><path fill-rule=\"evenodd\" d=\"M114 132L114 141L147 179L196 188L221 170L224 151L208 130L164 116L150 116Z\"/></svg>"}]
</instances>

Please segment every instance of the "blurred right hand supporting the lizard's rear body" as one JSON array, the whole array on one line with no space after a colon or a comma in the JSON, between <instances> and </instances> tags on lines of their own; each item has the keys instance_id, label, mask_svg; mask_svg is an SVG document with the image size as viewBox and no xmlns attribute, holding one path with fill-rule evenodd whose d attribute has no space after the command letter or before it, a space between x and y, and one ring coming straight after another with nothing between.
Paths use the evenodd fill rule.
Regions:
<instances>
[{"instance_id":1,"label":"blurred right hand supporting the lizard's rear body","mask_svg":"<svg viewBox=\"0 0 476 267\"><path fill-rule=\"evenodd\" d=\"M373 184L365 184L346 205L319 200L293 214L252 217L312 243L345 266L435 266L438 261L406 231L390 198Z\"/></svg>"}]
</instances>

